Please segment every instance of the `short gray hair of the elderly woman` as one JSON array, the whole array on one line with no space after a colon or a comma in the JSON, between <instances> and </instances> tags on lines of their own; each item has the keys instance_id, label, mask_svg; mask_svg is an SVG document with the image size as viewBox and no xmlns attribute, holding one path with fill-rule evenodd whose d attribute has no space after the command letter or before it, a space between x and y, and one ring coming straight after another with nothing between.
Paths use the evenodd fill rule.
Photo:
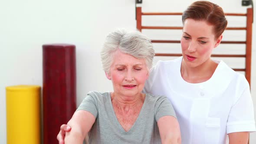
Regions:
<instances>
[{"instance_id":1,"label":"short gray hair of the elderly woman","mask_svg":"<svg viewBox=\"0 0 256 144\"><path fill-rule=\"evenodd\" d=\"M145 59L148 69L151 68L154 58L153 44L138 30L117 29L108 34L101 50L102 67L105 72L109 73L112 53L118 49L137 59Z\"/></svg>"}]
</instances>

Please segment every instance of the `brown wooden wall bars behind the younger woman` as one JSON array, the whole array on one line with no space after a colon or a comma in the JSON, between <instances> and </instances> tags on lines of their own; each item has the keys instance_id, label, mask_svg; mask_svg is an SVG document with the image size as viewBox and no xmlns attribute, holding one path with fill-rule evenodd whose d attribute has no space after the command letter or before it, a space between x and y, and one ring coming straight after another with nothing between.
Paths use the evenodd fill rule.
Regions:
<instances>
[{"instance_id":1,"label":"brown wooden wall bars behind the younger woman","mask_svg":"<svg viewBox=\"0 0 256 144\"><path fill-rule=\"evenodd\" d=\"M137 29L182 29L179 26L142 26L141 18L143 15L182 15L182 13L143 13L141 7L136 7ZM227 27L226 30L246 30L246 41L222 41L222 44L246 44L245 55L220 55L213 54L212 57L244 57L245 68L234 69L235 71L244 71L249 85L251 83L251 55L252 55L252 24L253 24L253 9L247 8L247 13L225 13L226 16L246 16L246 27ZM180 43L179 40L151 40L152 43ZM182 56L182 54L174 53L156 53L155 56Z\"/></svg>"}]
</instances>

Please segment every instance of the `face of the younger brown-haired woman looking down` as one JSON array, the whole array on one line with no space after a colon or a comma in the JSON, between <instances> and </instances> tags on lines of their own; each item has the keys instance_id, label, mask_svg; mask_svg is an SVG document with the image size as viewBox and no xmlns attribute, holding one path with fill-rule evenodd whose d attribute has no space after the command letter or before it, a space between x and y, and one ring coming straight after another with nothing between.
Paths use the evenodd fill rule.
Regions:
<instances>
[{"instance_id":1,"label":"face of the younger brown-haired woman looking down","mask_svg":"<svg viewBox=\"0 0 256 144\"><path fill-rule=\"evenodd\" d=\"M222 36L215 38L213 25L206 21L184 21L181 48L187 66L197 67L210 60L213 48L220 44Z\"/></svg>"}]
</instances>

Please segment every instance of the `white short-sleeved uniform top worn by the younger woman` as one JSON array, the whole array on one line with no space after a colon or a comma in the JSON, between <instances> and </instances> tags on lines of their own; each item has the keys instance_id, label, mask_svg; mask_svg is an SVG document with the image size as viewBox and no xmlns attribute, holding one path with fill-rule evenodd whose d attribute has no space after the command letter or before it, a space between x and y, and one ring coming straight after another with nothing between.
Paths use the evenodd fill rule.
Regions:
<instances>
[{"instance_id":1,"label":"white short-sleeved uniform top worn by the younger woman","mask_svg":"<svg viewBox=\"0 0 256 144\"><path fill-rule=\"evenodd\" d=\"M181 127L182 144L225 144L226 134L256 131L253 101L244 75L218 61L212 77L188 83L181 77L182 57L159 61L144 92L166 95Z\"/></svg>"}]
</instances>

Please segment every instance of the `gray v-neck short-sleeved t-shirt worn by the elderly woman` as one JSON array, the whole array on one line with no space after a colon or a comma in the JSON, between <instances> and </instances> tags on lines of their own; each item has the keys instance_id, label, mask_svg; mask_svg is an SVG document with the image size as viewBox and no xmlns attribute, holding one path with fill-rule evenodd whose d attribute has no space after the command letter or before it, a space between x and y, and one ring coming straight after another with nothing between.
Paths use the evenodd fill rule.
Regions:
<instances>
[{"instance_id":1,"label":"gray v-neck short-sleeved t-shirt worn by the elderly woman","mask_svg":"<svg viewBox=\"0 0 256 144\"><path fill-rule=\"evenodd\" d=\"M161 144L157 121L166 115L176 118L168 98L150 94L146 94L140 114L127 132L115 115L110 92L89 92L78 110L89 111L96 118L89 131L89 144Z\"/></svg>"}]
</instances>

